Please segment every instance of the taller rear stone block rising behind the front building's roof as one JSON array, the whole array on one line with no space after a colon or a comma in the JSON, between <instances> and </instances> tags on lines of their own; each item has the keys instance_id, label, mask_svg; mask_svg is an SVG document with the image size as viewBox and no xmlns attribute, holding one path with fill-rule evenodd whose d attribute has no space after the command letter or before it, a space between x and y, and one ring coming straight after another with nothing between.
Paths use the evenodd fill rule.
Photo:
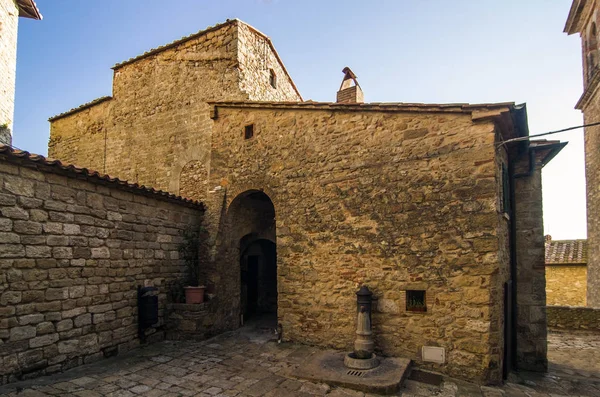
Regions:
<instances>
[{"instance_id":1,"label":"taller rear stone block rising behind the front building's roof","mask_svg":"<svg viewBox=\"0 0 600 397\"><path fill-rule=\"evenodd\" d=\"M51 157L172 193L210 168L207 101L300 96L270 41L234 20L114 67L110 100L51 119ZM269 70L277 89L269 84ZM183 188L183 190L181 190ZM202 198L207 186L195 186Z\"/></svg>"}]
</instances>

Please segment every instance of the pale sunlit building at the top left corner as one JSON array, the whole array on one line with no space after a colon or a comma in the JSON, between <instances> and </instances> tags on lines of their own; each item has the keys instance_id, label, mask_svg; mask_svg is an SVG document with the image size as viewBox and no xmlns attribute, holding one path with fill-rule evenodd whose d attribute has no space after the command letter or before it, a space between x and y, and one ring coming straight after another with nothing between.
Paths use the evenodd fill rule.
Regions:
<instances>
[{"instance_id":1,"label":"pale sunlit building at the top left corner","mask_svg":"<svg viewBox=\"0 0 600 397\"><path fill-rule=\"evenodd\" d=\"M33 0L0 0L0 144L12 143L19 17L42 19Z\"/></svg>"}]
</instances>

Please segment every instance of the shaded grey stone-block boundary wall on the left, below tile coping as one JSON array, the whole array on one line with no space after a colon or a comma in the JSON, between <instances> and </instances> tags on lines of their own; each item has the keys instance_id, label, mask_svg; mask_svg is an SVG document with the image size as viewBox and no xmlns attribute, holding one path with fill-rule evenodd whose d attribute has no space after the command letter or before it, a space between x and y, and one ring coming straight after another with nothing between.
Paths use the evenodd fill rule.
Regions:
<instances>
[{"instance_id":1,"label":"shaded grey stone-block boundary wall on the left, below tile coping","mask_svg":"<svg viewBox=\"0 0 600 397\"><path fill-rule=\"evenodd\" d=\"M182 232L198 227L201 207L5 153L2 383L138 345L136 287L159 287L163 324L167 284L182 277Z\"/></svg>"}]
</instances>

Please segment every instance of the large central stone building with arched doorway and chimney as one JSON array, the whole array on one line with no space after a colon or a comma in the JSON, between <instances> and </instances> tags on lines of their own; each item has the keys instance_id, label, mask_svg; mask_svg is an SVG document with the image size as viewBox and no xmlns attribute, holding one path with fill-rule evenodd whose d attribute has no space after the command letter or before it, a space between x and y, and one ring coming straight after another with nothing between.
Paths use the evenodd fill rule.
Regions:
<instances>
[{"instance_id":1,"label":"large central stone building with arched doorway and chimney","mask_svg":"<svg viewBox=\"0 0 600 397\"><path fill-rule=\"evenodd\" d=\"M541 169L564 144L529 142L524 105L362 103L349 69L336 103L303 102L239 20L113 69L112 96L50 119L49 154L204 202L219 316L348 349L365 284L382 354L546 369Z\"/></svg>"}]
</instances>

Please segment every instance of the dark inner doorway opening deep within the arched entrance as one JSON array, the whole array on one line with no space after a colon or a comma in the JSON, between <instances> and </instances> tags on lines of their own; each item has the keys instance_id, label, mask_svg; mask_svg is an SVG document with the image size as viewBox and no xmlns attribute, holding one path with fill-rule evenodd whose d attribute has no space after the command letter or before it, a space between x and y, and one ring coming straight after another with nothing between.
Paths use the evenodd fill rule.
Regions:
<instances>
[{"instance_id":1,"label":"dark inner doorway opening deep within the arched entrance","mask_svg":"<svg viewBox=\"0 0 600 397\"><path fill-rule=\"evenodd\" d=\"M266 239L251 240L251 236L247 236L240 242L240 251L241 309L244 321L257 316L276 315L277 250L275 243Z\"/></svg>"}]
</instances>

